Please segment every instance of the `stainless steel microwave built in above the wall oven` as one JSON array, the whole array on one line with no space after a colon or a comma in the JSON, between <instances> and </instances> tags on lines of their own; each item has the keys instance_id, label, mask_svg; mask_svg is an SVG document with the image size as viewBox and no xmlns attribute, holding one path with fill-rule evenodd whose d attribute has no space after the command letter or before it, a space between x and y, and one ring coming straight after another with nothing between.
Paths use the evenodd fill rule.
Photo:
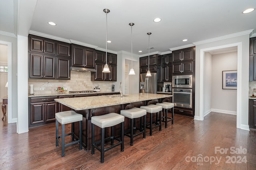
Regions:
<instances>
[{"instance_id":1,"label":"stainless steel microwave built in above the wall oven","mask_svg":"<svg viewBox=\"0 0 256 170\"><path fill-rule=\"evenodd\" d=\"M193 75L172 76L172 88L192 88Z\"/></svg>"}]
</instances>

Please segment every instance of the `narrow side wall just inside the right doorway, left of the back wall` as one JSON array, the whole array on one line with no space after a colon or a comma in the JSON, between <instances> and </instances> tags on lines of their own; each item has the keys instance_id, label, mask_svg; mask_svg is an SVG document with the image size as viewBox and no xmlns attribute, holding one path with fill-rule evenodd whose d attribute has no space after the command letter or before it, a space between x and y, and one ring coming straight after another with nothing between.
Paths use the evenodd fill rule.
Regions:
<instances>
[{"instance_id":1,"label":"narrow side wall just inside the right doorway, left of the back wall","mask_svg":"<svg viewBox=\"0 0 256 170\"><path fill-rule=\"evenodd\" d=\"M204 53L204 115L210 113L211 111L211 88L214 86L214 81L212 81L212 55L210 53ZM212 84L213 83L213 84Z\"/></svg>"}]
</instances>

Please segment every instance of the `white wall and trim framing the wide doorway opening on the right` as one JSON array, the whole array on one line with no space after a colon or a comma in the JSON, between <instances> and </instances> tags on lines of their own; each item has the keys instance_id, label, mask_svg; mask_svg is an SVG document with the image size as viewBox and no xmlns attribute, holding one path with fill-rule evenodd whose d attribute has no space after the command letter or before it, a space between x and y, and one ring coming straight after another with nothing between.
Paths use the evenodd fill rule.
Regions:
<instances>
[{"instance_id":1,"label":"white wall and trim framing the wide doorway opening on the right","mask_svg":"<svg viewBox=\"0 0 256 170\"><path fill-rule=\"evenodd\" d=\"M195 87L195 118L201 119L203 113L200 113L200 106L202 105L203 99L200 99L200 88L204 88L202 84L200 84L200 74L203 74L200 71L200 62L201 62L201 50L204 51L204 49L210 49L210 48L218 48L219 46L228 46L232 44L236 44L239 46L238 48L238 54L240 58L238 58L238 78L240 78L240 82L238 83L238 88L241 89L241 92L238 92L237 98L239 99L240 103L238 103L237 111L240 112L241 115L239 115L237 119L237 128L241 129L249 129L248 128L248 90L249 90L249 33L246 35L241 35L237 37L232 38L226 38L222 40L216 39L216 41L205 41L196 44L196 68L195 68L195 74L196 74L196 87ZM223 48L223 47L222 47ZM238 56L238 57L239 57ZM204 60L204 59L202 59ZM202 63L204 64L204 63ZM240 121L240 122L238 122Z\"/></svg>"}]
</instances>

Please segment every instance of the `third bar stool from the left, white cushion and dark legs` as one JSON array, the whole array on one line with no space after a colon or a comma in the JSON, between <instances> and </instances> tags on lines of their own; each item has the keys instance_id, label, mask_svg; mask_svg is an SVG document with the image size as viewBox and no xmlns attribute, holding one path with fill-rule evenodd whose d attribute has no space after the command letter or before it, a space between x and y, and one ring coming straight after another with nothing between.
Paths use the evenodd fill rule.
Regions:
<instances>
[{"instance_id":1,"label":"third bar stool from the left, white cushion and dark legs","mask_svg":"<svg viewBox=\"0 0 256 170\"><path fill-rule=\"evenodd\" d=\"M131 127L130 134L124 133L124 135L130 137L130 145L133 145L133 138L143 133L143 139L146 138L146 114L147 111L145 109L140 109L138 107L134 107L132 109L126 109L120 111L121 115L124 117L128 117L131 119ZM140 128L135 125L135 118L140 117ZM144 127L142 128L142 117L144 117ZM140 132L136 134L136 130Z\"/></svg>"}]
</instances>

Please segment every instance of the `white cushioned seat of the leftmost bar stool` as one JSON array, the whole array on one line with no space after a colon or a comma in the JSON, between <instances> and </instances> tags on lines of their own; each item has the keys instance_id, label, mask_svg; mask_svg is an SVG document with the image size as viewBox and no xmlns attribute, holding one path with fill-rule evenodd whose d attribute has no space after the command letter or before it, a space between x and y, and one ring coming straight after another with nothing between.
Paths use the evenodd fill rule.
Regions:
<instances>
[{"instance_id":1,"label":"white cushioned seat of the leftmost bar stool","mask_svg":"<svg viewBox=\"0 0 256 170\"><path fill-rule=\"evenodd\" d=\"M60 124L67 124L76 121L82 121L83 115L76 113L74 110L70 110L55 113L55 118Z\"/></svg>"}]
</instances>

